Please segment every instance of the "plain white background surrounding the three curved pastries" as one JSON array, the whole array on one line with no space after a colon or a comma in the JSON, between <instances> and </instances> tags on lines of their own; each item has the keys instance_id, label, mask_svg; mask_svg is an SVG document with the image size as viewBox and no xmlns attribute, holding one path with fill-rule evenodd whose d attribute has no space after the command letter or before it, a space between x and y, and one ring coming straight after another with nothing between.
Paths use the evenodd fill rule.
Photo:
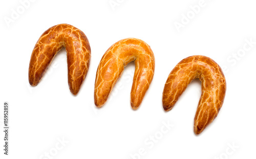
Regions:
<instances>
[{"instance_id":1,"label":"plain white background surrounding the three curved pastries","mask_svg":"<svg viewBox=\"0 0 256 159\"><path fill-rule=\"evenodd\" d=\"M256 44L244 52L243 47L246 40L256 41L256 3L205 0L204 7L195 13L190 6L198 5L199 0L114 2L119 5L112 7L109 0L38 0L24 9L17 0L1 1L0 158L255 158ZM17 9L19 16L12 18ZM187 14L189 21L183 21L178 31L175 23L182 24ZM7 18L12 22L6 22ZM61 23L82 30L91 45L89 73L77 96L69 90L65 49L57 54L37 86L28 82L36 41L45 30ZM97 66L113 43L128 37L144 40L155 54L150 89L139 109L133 110L131 62L111 99L98 109L93 97ZM191 55L214 59L227 80L223 107L200 135L193 132L199 80L187 87L172 110L165 112L162 108L168 74ZM5 101L10 105L8 156L2 146ZM174 126L162 134L163 123ZM155 135L159 140L148 144ZM63 139L66 144L59 142ZM143 149L143 156L138 156Z\"/></svg>"}]
</instances>

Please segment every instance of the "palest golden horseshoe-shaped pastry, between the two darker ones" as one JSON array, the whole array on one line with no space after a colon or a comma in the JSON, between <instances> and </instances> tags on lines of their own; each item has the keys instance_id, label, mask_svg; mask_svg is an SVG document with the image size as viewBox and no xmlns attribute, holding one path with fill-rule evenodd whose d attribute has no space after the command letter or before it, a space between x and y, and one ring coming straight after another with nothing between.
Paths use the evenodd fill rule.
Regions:
<instances>
[{"instance_id":1,"label":"palest golden horseshoe-shaped pastry, between the two darker ones","mask_svg":"<svg viewBox=\"0 0 256 159\"><path fill-rule=\"evenodd\" d=\"M131 106L137 109L150 86L155 71L155 57L147 43L127 38L114 43L103 55L96 73L94 102L101 107L120 78L124 67L135 60Z\"/></svg>"}]
</instances>

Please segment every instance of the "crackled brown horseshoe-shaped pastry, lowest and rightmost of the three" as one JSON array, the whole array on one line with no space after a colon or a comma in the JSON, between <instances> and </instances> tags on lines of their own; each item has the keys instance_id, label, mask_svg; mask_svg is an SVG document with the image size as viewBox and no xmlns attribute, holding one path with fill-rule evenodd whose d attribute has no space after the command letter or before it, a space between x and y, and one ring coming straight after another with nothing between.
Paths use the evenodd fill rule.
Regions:
<instances>
[{"instance_id":1,"label":"crackled brown horseshoe-shaped pastry, lowest and rightmost of the three","mask_svg":"<svg viewBox=\"0 0 256 159\"><path fill-rule=\"evenodd\" d=\"M163 108L173 108L187 85L194 79L202 82L202 95L194 119L194 132L200 134L218 115L222 107L226 80L221 67L205 56L190 56L180 61L170 72L163 89Z\"/></svg>"}]
</instances>

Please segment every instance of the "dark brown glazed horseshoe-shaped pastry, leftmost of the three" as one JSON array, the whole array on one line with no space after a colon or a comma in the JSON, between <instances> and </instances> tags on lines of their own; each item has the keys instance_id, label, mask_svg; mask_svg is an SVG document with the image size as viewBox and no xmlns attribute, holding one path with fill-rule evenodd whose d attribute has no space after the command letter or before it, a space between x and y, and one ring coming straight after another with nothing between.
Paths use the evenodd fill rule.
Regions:
<instances>
[{"instance_id":1,"label":"dark brown glazed horseshoe-shaped pastry, leftmost of the three","mask_svg":"<svg viewBox=\"0 0 256 159\"><path fill-rule=\"evenodd\" d=\"M88 73L91 48L86 35L68 24L49 28L36 42L29 64L29 83L32 86L39 83L62 47L67 51L69 88L76 95Z\"/></svg>"}]
</instances>

